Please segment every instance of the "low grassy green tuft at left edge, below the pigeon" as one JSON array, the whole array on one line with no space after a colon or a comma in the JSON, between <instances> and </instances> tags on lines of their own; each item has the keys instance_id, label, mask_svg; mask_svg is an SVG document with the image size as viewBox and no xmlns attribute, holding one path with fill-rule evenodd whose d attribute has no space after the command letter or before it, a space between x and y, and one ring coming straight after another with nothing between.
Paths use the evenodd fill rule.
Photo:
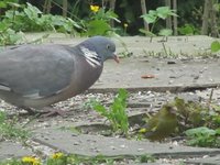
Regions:
<instances>
[{"instance_id":1,"label":"low grassy green tuft at left edge, below the pigeon","mask_svg":"<svg viewBox=\"0 0 220 165\"><path fill-rule=\"evenodd\" d=\"M7 118L4 112L0 111L0 134L4 139L19 139L26 140L29 132L16 125L18 119L14 117L12 120Z\"/></svg>"}]
</instances>

